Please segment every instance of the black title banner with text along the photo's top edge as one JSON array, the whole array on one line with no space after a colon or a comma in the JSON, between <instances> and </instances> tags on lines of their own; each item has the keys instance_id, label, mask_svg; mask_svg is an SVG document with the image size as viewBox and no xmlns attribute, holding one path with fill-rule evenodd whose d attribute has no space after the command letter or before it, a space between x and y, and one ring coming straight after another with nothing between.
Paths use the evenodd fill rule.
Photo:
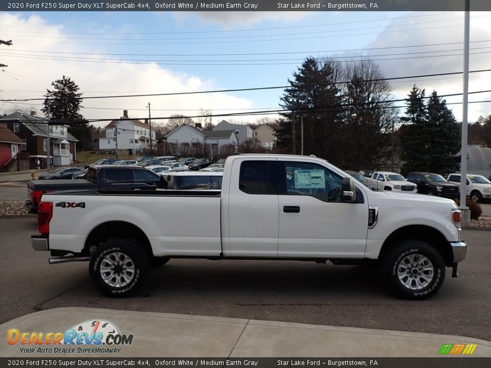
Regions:
<instances>
[{"instance_id":1,"label":"black title banner with text along the photo's top edge","mask_svg":"<svg viewBox=\"0 0 491 368\"><path fill-rule=\"evenodd\" d=\"M310 1L159 1L109 2L18 1L1 2L1 11L463 11L464 0L310 0ZM472 0L471 11L491 11L491 1Z\"/></svg>"}]
</instances>

